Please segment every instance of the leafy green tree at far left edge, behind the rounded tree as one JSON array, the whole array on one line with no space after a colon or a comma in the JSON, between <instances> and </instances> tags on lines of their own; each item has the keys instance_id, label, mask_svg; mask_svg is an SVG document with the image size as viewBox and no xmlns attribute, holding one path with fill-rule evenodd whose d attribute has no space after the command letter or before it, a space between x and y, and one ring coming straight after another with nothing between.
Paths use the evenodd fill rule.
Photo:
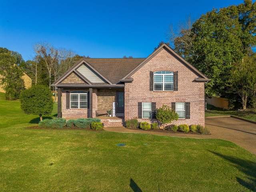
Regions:
<instances>
[{"instance_id":1,"label":"leafy green tree at far left edge, behind the rounded tree","mask_svg":"<svg viewBox=\"0 0 256 192\"><path fill-rule=\"evenodd\" d=\"M0 84L6 91L6 100L16 100L20 92L24 89L24 74L20 64L23 59L17 52L12 52L6 48L0 48Z\"/></svg>"}]
</instances>

